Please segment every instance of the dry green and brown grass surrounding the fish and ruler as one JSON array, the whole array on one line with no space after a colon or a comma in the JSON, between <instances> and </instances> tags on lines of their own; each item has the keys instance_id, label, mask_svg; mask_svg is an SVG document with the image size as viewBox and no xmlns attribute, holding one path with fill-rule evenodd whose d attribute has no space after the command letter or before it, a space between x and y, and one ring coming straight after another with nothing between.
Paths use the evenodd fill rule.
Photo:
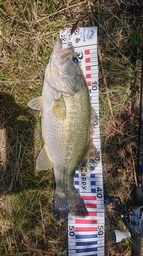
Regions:
<instances>
[{"instance_id":1,"label":"dry green and brown grass surrounding the fish and ruler","mask_svg":"<svg viewBox=\"0 0 143 256\"><path fill-rule=\"evenodd\" d=\"M36 169L42 148L39 113L27 103L41 95L43 76L60 29L94 17L113 111L110 116L99 65L100 132L104 192L133 204L133 160L141 76L140 1L0 0L0 254L65 255L67 222L53 218L52 170ZM79 22L82 26L82 22ZM131 255L129 240L111 241L124 230L117 204L105 206L105 255ZM45 229L45 237L43 232Z\"/></svg>"}]
</instances>

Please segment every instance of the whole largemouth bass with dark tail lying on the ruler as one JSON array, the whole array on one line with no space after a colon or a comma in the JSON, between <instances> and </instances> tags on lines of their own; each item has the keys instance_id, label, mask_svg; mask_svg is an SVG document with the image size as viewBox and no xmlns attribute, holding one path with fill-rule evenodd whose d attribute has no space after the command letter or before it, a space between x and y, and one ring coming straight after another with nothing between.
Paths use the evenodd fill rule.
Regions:
<instances>
[{"instance_id":1,"label":"whole largemouth bass with dark tail lying on the ruler","mask_svg":"<svg viewBox=\"0 0 143 256\"><path fill-rule=\"evenodd\" d=\"M98 117L91 107L75 49L63 49L60 38L45 69L42 95L32 99L28 106L41 112L44 145L37 168L53 168L55 221L61 223L68 215L87 217L84 200L74 186L74 174L78 166L84 176L91 172L91 165L97 166L100 161L91 141Z\"/></svg>"}]
</instances>

